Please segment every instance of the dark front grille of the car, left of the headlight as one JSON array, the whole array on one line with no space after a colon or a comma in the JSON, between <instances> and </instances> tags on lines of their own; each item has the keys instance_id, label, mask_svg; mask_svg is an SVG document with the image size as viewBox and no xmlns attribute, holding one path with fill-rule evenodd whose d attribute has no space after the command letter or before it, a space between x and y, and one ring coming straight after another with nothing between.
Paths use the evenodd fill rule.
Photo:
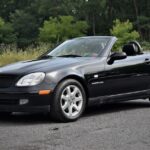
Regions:
<instances>
[{"instance_id":1,"label":"dark front grille of the car, left of the headlight","mask_svg":"<svg viewBox=\"0 0 150 150\"><path fill-rule=\"evenodd\" d=\"M8 88L16 81L15 75L1 75L0 74L0 88Z\"/></svg>"}]
</instances>

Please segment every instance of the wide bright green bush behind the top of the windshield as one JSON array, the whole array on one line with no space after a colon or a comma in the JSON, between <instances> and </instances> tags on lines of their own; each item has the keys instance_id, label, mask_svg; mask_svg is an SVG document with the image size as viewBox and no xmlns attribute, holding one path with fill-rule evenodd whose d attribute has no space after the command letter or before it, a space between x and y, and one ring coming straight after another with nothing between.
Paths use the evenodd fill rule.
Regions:
<instances>
[{"instance_id":1,"label":"wide bright green bush behind the top of the windshield","mask_svg":"<svg viewBox=\"0 0 150 150\"><path fill-rule=\"evenodd\" d=\"M39 39L43 42L58 43L68 38L83 36L87 29L85 21L76 21L72 16L50 17L40 28Z\"/></svg>"}]
</instances>

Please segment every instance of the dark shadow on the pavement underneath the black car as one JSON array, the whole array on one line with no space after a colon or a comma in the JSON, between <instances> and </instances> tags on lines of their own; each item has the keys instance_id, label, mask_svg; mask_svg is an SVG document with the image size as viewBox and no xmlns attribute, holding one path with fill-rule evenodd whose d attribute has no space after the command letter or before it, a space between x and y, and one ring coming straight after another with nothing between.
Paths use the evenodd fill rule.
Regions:
<instances>
[{"instance_id":1,"label":"dark shadow on the pavement underneath the black car","mask_svg":"<svg viewBox=\"0 0 150 150\"><path fill-rule=\"evenodd\" d=\"M128 101L120 103L109 103L90 106L86 109L84 117L92 117L95 115L103 115L107 113L116 113L126 110L149 108L150 102L145 100ZM82 119L82 118L81 118ZM48 114L43 113L13 113L12 115L0 114L0 126L5 124L17 125L34 125L34 124L49 124L53 122Z\"/></svg>"}]
</instances>

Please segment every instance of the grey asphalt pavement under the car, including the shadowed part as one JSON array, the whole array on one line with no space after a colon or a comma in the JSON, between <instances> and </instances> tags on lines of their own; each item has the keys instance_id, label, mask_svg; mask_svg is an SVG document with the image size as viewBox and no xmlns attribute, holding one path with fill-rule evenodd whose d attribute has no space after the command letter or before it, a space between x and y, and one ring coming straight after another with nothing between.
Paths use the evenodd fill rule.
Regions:
<instances>
[{"instance_id":1,"label":"grey asphalt pavement under the car, including the shadowed part","mask_svg":"<svg viewBox=\"0 0 150 150\"><path fill-rule=\"evenodd\" d=\"M73 123L46 114L0 116L0 150L149 150L150 102L93 106Z\"/></svg>"}]
</instances>

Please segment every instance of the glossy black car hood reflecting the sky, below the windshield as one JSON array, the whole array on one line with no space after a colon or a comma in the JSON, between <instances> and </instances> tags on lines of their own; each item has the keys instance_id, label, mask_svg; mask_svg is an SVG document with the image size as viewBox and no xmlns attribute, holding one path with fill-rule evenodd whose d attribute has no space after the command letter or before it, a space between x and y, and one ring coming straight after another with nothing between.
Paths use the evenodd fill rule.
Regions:
<instances>
[{"instance_id":1,"label":"glossy black car hood reflecting the sky, below the windshield","mask_svg":"<svg viewBox=\"0 0 150 150\"><path fill-rule=\"evenodd\" d=\"M50 72L73 64L81 64L87 61L87 58L62 58L22 61L0 68L0 74L26 74L32 72Z\"/></svg>"}]
</instances>

